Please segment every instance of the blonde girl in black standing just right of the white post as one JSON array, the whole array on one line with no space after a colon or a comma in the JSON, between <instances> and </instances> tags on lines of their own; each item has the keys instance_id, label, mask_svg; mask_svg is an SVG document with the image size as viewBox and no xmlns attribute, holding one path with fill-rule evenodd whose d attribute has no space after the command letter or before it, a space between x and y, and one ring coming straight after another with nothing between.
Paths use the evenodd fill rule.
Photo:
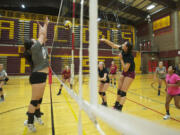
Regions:
<instances>
[{"instance_id":1,"label":"blonde girl in black standing just right of the white post","mask_svg":"<svg viewBox=\"0 0 180 135\"><path fill-rule=\"evenodd\" d=\"M99 63L98 73L99 73L99 81L100 81L99 95L102 98L102 105L107 106L106 90L109 87L109 76L108 76L108 71L105 68L103 62Z\"/></svg>"}]
</instances>

